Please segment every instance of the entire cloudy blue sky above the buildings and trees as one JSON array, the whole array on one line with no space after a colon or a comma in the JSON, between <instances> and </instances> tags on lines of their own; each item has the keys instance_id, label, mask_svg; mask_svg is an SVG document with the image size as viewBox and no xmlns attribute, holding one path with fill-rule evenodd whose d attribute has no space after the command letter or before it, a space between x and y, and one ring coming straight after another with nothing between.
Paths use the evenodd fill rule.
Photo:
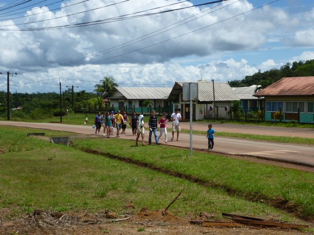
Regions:
<instances>
[{"instance_id":1,"label":"entire cloudy blue sky above the buildings and trees","mask_svg":"<svg viewBox=\"0 0 314 235\"><path fill-rule=\"evenodd\" d=\"M313 0L209 2L1 0L0 91L7 71L11 93L93 92L104 76L172 87L314 59Z\"/></svg>"}]
</instances>

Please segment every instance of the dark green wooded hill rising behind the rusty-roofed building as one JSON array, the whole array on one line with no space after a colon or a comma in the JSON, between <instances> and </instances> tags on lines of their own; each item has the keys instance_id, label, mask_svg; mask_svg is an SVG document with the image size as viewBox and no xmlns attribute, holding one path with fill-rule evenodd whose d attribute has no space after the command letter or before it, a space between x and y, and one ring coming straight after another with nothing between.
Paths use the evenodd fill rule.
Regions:
<instances>
[{"instance_id":1,"label":"dark green wooded hill rising behind the rusty-roofed building","mask_svg":"<svg viewBox=\"0 0 314 235\"><path fill-rule=\"evenodd\" d=\"M280 80L283 77L306 77L314 76L314 60L294 61L287 63L280 69L271 69L269 71L258 71L253 75L247 75L242 80L228 81L231 87L248 87L252 85L262 85L262 88Z\"/></svg>"}]
</instances>

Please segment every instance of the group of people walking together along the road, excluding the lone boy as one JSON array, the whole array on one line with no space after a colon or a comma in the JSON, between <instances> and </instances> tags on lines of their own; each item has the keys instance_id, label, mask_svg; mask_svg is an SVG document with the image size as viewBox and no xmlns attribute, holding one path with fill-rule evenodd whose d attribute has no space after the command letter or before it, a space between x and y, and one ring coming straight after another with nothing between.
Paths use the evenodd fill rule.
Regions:
<instances>
[{"instance_id":1,"label":"group of people walking together along the road, excluding the lone boy","mask_svg":"<svg viewBox=\"0 0 314 235\"><path fill-rule=\"evenodd\" d=\"M126 133L127 123L131 125L132 128L132 135L136 135L136 142L135 146L138 146L139 137L142 138L142 145L145 145L144 137L145 137L145 128L149 128L149 139L148 142L152 144L152 136L154 134L156 144L160 144L159 140L162 135L165 136L165 143L168 143L168 134L167 134L167 122L168 118L166 117L167 114L163 113L162 117L157 121L156 111L152 111L152 116L149 118L148 127L145 126L144 123L144 116L141 114L139 116L136 115L136 112L133 112L131 118L129 119L128 115L124 111L124 114L121 114L119 110L117 114L114 114L114 111L105 112L104 115L101 112L95 117L95 134L100 134L102 126L104 127L104 136L109 138L110 135L113 135L113 128L114 126L117 129L116 136L120 137L120 131L122 130L121 134ZM179 110L176 109L175 112L171 115L172 120L172 138L171 141L174 139L174 134L177 132L177 141L179 140L179 132L181 131L180 122L182 120L181 114ZM158 124L160 124L160 133L159 136L157 135L157 128Z\"/></svg>"}]
</instances>

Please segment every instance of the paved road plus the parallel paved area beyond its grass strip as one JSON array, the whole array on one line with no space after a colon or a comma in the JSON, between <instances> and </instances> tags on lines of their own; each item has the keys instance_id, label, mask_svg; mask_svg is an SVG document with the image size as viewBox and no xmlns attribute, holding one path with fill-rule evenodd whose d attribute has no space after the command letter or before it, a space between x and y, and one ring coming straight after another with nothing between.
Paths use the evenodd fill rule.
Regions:
<instances>
[{"instance_id":1,"label":"paved road plus the parallel paved area beyond its grass strip","mask_svg":"<svg viewBox=\"0 0 314 235\"><path fill-rule=\"evenodd\" d=\"M32 127L40 129L50 129L50 130L59 130L59 131L69 131L74 133L81 134L94 134L94 129L91 126L81 126L81 125L65 125L59 123L29 123L29 122L7 122L0 121L0 125L13 125L13 126L23 126L23 127ZM205 125L205 128L204 128ZM193 129L207 130L207 123L193 123ZM233 128L235 126L235 128ZM242 126L242 125L241 125ZM182 123L182 127L188 129L189 123ZM228 129L229 132L238 132L238 125L230 124L215 124L215 129L221 131L223 128ZM249 127L249 128L248 128ZM253 128L256 128L254 131L258 133L265 132L267 135L272 135L273 132L277 132L274 127L271 128L268 132L265 129L262 131L258 130L256 126L242 127L242 131L252 131ZM263 127L261 127L263 128ZM284 134L284 129L288 129L286 135L291 135L290 128L280 128L281 133ZM299 129L298 129L299 130ZM307 130L312 133L311 129ZM300 132L300 131L299 131ZM297 135L299 132L295 132L292 135ZM302 129L302 132L307 133ZM128 129L127 133L131 133L131 130ZM256 133L255 133L256 134ZM95 135L95 134L94 134ZM313 135L313 134L312 134ZM135 136L130 134L122 134L121 138L124 139L133 139ZM313 136L312 136L313 137ZM114 137L115 138L115 137ZM145 135L146 141L148 141L148 131ZM161 137L160 142L164 140L164 137ZM168 133L168 140L171 140L171 133ZM153 143L155 142L153 137ZM180 133L180 141L169 141L169 145L179 146L179 147L189 147L189 134ZM307 166L314 167L314 147L312 146L301 146L301 145L292 145L292 144L279 144L273 142L263 142L263 141L249 141L249 140L238 140L231 138L215 138L215 146L213 150L207 150L207 139L205 135L193 135L193 148L203 149L206 151L213 151L223 154L239 155L239 156L252 156L258 158L265 158L270 160L276 160L280 162L302 164Z\"/></svg>"}]
</instances>

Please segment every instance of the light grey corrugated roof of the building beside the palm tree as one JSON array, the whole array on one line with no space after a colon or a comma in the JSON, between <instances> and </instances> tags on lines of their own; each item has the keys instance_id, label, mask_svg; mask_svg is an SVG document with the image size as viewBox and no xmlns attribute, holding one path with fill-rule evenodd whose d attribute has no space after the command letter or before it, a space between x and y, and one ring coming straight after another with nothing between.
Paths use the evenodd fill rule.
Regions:
<instances>
[{"instance_id":1,"label":"light grey corrugated roof of the building beside the palm tree","mask_svg":"<svg viewBox=\"0 0 314 235\"><path fill-rule=\"evenodd\" d=\"M105 98L125 99L167 99L172 88L170 87L115 87Z\"/></svg>"}]
</instances>

